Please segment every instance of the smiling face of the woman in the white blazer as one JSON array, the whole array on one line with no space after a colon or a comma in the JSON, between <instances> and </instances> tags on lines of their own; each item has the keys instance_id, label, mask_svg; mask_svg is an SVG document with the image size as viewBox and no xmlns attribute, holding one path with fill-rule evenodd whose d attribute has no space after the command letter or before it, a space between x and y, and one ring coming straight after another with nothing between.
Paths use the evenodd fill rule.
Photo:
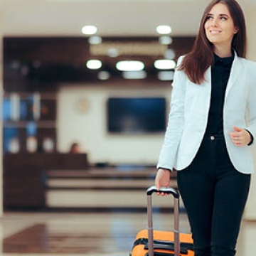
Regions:
<instances>
[{"instance_id":1,"label":"smiling face of the woman in the white blazer","mask_svg":"<svg viewBox=\"0 0 256 256\"><path fill-rule=\"evenodd\" d=\"M238 33L238 28L234 26L233 18L225 4L218 3L210 9L204 28L206 37L213 43L214 48L231 50L233 36Z\"/></svg>"}]
</instances>

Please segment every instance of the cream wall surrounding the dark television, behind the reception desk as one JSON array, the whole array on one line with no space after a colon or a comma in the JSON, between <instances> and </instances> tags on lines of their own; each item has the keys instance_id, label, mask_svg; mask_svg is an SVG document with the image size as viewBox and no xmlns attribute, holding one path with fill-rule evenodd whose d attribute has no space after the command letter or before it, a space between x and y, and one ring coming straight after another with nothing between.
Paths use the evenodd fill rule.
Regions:
<instances>
[{"instance_id":1,"label":"cream wall surrounding the dark television, behind the reception desk","mask_svg":"<svg viewBox=\"0 0 256 256\"><path fill-rule=\"evenodd\" d=\"M160 84L160 82L159 82ZM107 133L106 102L108 97L166 97L169 112L171 83L161 87L127 87L66 85L58 94L58 150L68 151L74 141L80 142L92 163L156 164L164 133L116 135ZM80 104L80 105L79 105ZM85 110L80 110L84 106Z\"/></svg>"}]
</instances>

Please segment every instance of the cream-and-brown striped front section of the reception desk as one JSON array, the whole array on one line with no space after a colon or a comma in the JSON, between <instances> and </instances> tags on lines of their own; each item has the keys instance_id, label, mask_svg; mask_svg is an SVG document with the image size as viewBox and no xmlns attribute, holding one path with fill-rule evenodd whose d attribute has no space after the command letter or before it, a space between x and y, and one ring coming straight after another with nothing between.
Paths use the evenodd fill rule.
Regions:
<instances>
[{"instance_id":1,"label":"cream-and-brown striped front section of the reception desk","mask_svg":"<svg viewBox=\"0 0 256 256\"><path fill-rule=\"evenodd\" d=\"M176 188L176 174L170 186ZM154 185L156 168L117 166L88 171L53 170L47 173L46 208L65 210L146 210L146 188ZM170 210L173 200L158 197L154 206Z\"/></svg>"}]
</instances>

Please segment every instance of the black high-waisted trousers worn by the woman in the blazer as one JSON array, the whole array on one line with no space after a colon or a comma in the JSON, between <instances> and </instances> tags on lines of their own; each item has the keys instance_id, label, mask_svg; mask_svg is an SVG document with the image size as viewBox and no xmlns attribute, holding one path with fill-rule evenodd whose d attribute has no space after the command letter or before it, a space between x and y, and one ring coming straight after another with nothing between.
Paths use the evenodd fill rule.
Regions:
<instances>
[{"instance_id":1,"label":"black high-waisted trousers worn by the woman in the blazer","mask_svg":"<svg viewBox=\"0 0 256 256\"><path fill-rule=\"evenodd\" d=\"M235 255L250 174L234 168L223 135L206 135L191 165L178 171L177 178L195 256Z\"/></svg>"}]
</instances>

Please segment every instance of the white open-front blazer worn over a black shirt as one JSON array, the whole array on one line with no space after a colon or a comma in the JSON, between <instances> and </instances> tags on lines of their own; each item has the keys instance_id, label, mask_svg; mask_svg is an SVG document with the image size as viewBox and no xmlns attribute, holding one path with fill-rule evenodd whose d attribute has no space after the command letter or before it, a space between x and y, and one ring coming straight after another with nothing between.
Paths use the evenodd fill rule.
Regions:
<instances>
[{"instance_id":1,"label":"white open-front blazer worn over a black shirt","mask_svg":"<svg viewBox=\"0 0 256 256\"><path fill-rule=\"evenodd\" d=\"M180 65L183 57L178 58ZM171 109L157 168L185 169L201 145L210 108L211 69L206 81L197 85L183 70L174 74ZM230 160L244 174L254 171L250 146L235 146L230 139L233 127L248 129L256 139L256 63L235 58L225 92L223 130Z\"/></svg>"}]
</instances>

